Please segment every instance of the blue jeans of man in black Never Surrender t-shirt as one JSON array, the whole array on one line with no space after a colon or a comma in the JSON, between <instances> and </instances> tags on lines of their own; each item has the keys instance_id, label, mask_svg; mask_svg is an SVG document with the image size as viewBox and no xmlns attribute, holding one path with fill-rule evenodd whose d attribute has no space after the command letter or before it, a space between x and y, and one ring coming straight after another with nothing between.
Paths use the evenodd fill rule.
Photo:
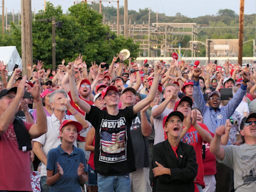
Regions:
<instances>
[{"instance_id":1,"label":"blue jeans of man in black Never Surrender t-shirt","mask_svg":"<svg viewBox=\"0 0 256 192\"><path fill-rule=\"evenodd\" d=\"M129 174L104 176L97 173L98 192L130 192Z\"/></svg>"}]
</instances>

